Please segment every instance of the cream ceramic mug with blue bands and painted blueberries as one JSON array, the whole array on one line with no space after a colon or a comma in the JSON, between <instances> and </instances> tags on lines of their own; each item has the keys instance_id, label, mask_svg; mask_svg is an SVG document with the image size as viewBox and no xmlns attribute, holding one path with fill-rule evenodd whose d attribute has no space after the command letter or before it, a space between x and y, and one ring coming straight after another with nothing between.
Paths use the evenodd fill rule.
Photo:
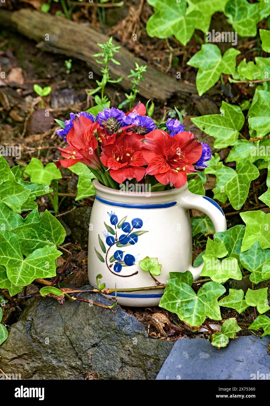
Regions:
<instances>
[{"instance_id":1,"label":"cream ceramic mug with blue bands and painted blueberries","mask_svg":"<svg viewBox=\"0 0 270 406\"><path fill-rule=\"evenodd\" d=\"M94 179L96 199L89 224L88 276L118 289L155 286L139 261L157 257L162 265L159 282L167 283L169 272L192 272L198 279L203 264L192 266L192 230L189 209L209 216L215 231L226 231L220 206L206 196L181 188L162 192L125 192L101 185ZM157 306L162 289L117 294L124 306ZM114 294L111 294L114 296Z\"/></svg>"}]
</instances>

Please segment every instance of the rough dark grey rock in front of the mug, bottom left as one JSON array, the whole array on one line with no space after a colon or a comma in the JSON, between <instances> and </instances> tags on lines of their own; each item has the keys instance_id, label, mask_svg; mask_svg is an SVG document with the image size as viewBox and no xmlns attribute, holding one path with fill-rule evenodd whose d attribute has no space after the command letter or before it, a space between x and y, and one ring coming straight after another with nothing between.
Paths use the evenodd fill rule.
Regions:
<instances>
[{"instance_id":1,"label":"rough dark grey rock in front of the mug, bottom left","mask_svg":"<svg viewBox=\"0 0 270 406\"><path fill-rule=\"evenodd\" d=\"M112 304L101 294L80 297ZM173 346L148 338L144 325L118 305L112 313L85 302L29 302L0 347L1 369L22 379L84 379L92 371L90 352L100 379L155 379Z\"/></svg>"}]
</instances>

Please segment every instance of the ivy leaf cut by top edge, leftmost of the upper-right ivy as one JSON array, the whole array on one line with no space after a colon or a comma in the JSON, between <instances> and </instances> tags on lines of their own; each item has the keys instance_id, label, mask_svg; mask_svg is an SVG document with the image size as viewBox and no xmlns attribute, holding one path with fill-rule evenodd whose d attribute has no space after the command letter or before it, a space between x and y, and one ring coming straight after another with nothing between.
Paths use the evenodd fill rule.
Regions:
<instances>
[{"instance_id":1,"label":"ivy leaf cut by top edge, leftmost of the upper-right ivy","mask_svg":"<svg viewBox=\"0 0 270 406\"><path fill-rule=\"evenodd\" d=\"M197 12L185 15L186 2L172 3L171 0L147 0L155 8L146 24L146 31L150 37L167 38L174 35L178 41L186 45L193 35Z\"/></svg>"}]
</instances>

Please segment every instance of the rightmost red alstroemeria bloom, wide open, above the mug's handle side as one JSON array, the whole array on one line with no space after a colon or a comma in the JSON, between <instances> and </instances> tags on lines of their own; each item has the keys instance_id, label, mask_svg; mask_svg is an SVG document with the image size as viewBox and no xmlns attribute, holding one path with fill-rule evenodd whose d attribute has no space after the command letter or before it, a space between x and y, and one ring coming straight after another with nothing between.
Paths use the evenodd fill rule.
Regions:
<instances>
[{"instance_id":1,"label":"rightmost red alstroemeria bloom, wide open, above the mug's handle side","mask_svg":"<svg viewBox=\"0 0 270 406\"><path fill-rule=\"evenodd\" d=\"M153 130L144 137L143 155L148 162L146 175L155 175L163 185L181 188L187 173L202 155L202 145L191 132L179 132L171 137L163 130Z\"/></svg>"}]
</instances>

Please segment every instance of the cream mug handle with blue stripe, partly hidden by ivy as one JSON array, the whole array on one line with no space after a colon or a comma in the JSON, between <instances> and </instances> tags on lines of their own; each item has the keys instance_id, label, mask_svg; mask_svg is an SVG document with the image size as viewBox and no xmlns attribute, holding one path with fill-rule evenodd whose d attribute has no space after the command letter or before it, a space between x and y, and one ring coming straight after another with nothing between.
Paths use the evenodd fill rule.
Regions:
<instances>
[{"instance_id":1,"label":"cream mug handle with blue stripe, partly hidden by ivy","mask_svg":"<svg viewBox=\"0 0 270 406\"><path fill-rule=\"evenodd\" d=\"M227 224L225 215L221 207L213 199L200 194L194 194L186 189L185 192L181 194L181 206L185 209L197 209L207 214L213 223L216 233L218 231L226 231ZM194 281L199 279L202 268L203 263L196 268L192 266L192 263L190 264L189 270L193 275Z\"/></svg>"}]
</instances>

